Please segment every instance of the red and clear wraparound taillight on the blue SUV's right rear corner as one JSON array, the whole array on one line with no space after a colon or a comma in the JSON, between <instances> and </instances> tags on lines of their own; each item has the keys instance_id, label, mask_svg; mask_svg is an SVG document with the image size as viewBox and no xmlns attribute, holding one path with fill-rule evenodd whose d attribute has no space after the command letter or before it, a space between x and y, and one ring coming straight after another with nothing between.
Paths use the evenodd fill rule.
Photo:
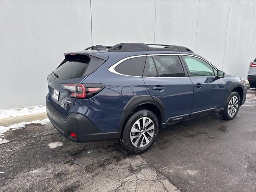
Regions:
<instances>
[{"instance_id":1,"label":"red and clear wraparound taillight on the blue SUV's right rear corner","mask_svg":"<svg viewBox=\"0 0 256 192\"><path fill-rule=\"evenodd\" d=\"M74 98L91 98L105 87L103 84L61 84L61 86L70 91L70 97Z\"/></svg>"}]
</instances>

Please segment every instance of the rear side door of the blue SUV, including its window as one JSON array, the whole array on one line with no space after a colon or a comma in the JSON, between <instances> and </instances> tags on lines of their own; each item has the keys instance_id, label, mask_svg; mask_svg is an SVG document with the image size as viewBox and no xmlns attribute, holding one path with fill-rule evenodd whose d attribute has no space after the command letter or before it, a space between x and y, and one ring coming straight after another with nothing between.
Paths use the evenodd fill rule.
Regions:
<instances>
[{"instance_id":1,"label":"rear side door of the blue SUV, including its window","mask_svg":"<svg viewBox=\"0 0 256 192\"><path fill-rule=\"evenodd\" d=\"M147 55L143 80L153 99L164 104L165 122L183 120L191 113L193 85L179 54Z\"/></svg>"}]
</instances>

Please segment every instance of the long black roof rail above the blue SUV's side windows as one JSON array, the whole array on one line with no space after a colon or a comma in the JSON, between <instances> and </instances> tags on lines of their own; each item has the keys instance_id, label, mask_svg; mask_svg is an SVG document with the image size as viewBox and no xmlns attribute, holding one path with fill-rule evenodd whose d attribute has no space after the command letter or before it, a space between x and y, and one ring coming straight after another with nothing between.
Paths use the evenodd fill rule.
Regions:
<instances>
[{"instance_id":1,"label":"long black roof rail above the blue SUV's side windows","mask_svg":"<svg viewBox=\"0 0 256 192\"><path fill-rule=\"evenodd\" d=\"M149 45L165 46L164 48L154 48ZM164 45L164 44L144 44L144 43L120 43L108 49L110 52L124 52L124 51L179 51L179 52L192 52L189 48L177 45Z\"/></svg>"}]
</instances>

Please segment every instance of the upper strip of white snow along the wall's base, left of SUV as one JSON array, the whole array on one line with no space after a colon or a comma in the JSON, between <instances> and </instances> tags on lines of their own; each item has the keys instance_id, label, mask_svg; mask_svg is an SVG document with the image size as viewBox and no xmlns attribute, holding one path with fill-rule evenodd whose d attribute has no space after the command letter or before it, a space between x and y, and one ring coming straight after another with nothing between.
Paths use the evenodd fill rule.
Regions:
<instances>
[{"instance_id":1,"label":"upper strip of white snow along the wall's base, left of SUV","mask_svg":"<svg viewBox=\"0 0 256 192\"><path fill-rule=\"evenodd\" d=\"M37 113L46 112L46 108L44 105L39 106L31 106L25 108L15 108L15 109L4 109L0 110L0 119L10 118L10 117L18 117L24 115L32 115Z\"/></svg>"}]
</instances>

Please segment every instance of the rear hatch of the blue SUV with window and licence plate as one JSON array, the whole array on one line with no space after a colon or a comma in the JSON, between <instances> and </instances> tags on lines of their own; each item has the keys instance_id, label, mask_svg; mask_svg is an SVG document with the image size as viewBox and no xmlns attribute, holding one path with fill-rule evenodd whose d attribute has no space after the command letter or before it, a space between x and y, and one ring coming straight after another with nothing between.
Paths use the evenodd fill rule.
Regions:
<instances>
[{"instance_id":1,"label":"rear hatch of the blue SUV with window and licence plate","mask_svg":"<svg viewBox=\"0 0 256 192\"><path fill-rule=\"evenodd\" d=\"M89 74L105 62L104 59L88 54L69 53L65 59L47 78L50 100L53 106L65 115L74 107L76 98L72 97L63 84L79 84Z\"/></svg>"}]
</instances>

